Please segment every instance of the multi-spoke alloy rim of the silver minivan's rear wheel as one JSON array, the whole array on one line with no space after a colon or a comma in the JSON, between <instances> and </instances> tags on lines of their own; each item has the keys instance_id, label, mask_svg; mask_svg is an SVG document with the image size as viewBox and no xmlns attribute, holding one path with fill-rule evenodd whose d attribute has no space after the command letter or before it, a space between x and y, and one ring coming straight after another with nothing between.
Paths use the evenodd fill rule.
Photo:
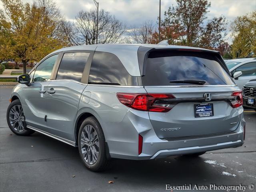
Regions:
<instances>
[{"instance_id":1,"label":"multi-spoke alloy rim of the silver minivan's rear wheel","mask_svg":"<svg viewBox=\"0 0 256 192\"><path fill-rule=\"evenodd\" d=\"M86 125L83 128L80 144L84 160L90 165L94 164L99 156L100 145L98 134L93 126Z\"/></svg>"}]
</instances>

